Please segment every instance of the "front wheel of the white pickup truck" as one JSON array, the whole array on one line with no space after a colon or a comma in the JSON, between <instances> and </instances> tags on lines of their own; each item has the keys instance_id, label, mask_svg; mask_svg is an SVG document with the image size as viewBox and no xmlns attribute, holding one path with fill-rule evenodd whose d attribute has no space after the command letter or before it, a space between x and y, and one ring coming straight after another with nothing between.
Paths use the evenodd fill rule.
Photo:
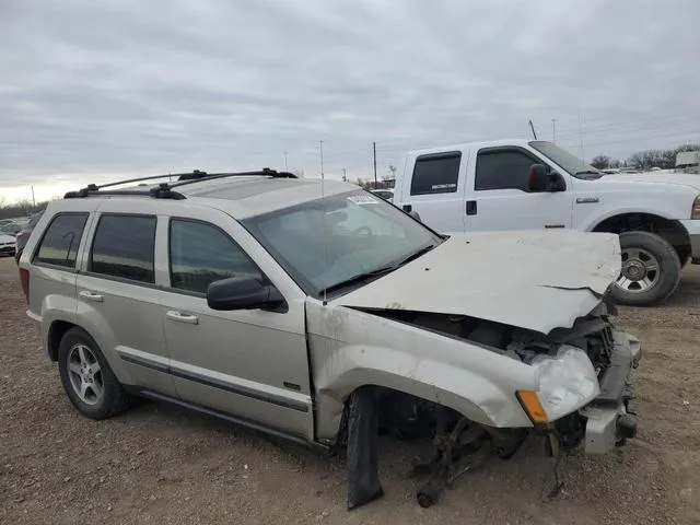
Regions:
<instances>
[{"instance_id":1,"label":"front wheel of the white pickup truck","mask_svg":"<svg viewBox=\"0 0 700 525\"><path fill-rule=\"evenodd\" d=\"M666 240L649 232L625 232L620 248L622 271L611 291L618 303L651 306L678 288L680 259Z\"/></svg>"}]
</instances>

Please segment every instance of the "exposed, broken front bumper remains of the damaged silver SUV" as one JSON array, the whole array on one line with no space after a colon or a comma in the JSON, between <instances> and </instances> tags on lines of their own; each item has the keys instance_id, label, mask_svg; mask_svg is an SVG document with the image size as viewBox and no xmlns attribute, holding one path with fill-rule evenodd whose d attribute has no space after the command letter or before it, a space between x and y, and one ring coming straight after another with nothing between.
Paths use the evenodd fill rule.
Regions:
<instances>
[{"instance_id":1,"label":"exposed, broken front bumper remains of the damaged silver SUV","mask_svg":"<svg viewBox=\"0 0 700 525\"><path fill-rule=\"evenodd\" d=\"M640 359L639 339L616 331L612 362L600 381L600 395L580 411L586 418L586 454L607 454L618 442L637 433L637 420L627 411L634 397L628 380Z\"/></svg>"}]
</instances>

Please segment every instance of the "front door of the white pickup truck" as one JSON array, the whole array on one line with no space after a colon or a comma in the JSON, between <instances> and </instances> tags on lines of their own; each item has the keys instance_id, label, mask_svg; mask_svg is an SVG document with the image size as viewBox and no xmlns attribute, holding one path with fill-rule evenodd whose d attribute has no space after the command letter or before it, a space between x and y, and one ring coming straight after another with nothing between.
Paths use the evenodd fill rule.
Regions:
<instances>
[{"instance_id":1,"label":"front door of the white pickup truck","mask_svg":"<svg viewBox=\"0 0 700 525\"><path fill-rule=\"evenodd\" d=\"M565 229L572 224L571 177L564 191L528 189L529 168L547 163L520 147L481 148L468 170L467 231Z\"/></svg>"}]
</instances>

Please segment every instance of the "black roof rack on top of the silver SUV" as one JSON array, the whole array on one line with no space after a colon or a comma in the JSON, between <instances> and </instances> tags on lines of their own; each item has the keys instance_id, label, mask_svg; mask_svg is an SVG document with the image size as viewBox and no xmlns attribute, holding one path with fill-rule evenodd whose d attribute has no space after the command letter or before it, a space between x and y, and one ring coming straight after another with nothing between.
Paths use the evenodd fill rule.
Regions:
<instances>
[{"instance_id":1,"label":"black roof rack on top of the silver SUV","mask_svg":"<svg viewBox=\"0 0 700 525\"><path fill-rule=\"evenodd\" d=\"M173 188L177 188L179 186L186 186L189 184L200 183L203 180L213 180L217 178L228 178L228 177L252 177L252 176L261 176L261 177L271 177L271 178L296 178L296 175L289 172L278 172L276 170L270 170L269 167L264 167L262 170L254 171L254 172L232 172L232 173L207 173L199 170L195 170L190 173L175 173L167 175L149 175L147 177L137 177L137 178L127 178L126 180L119 180L116 183L102 184L97 186L96 184L89 184L82 189L78 191L68 191L63 195L65 199L80 199L85 197L102 197L102 196L145 196L152 197L155 199L175 199L180 200L186 197L178 192L173 191ZM122 184L130 183L141 183L143 180L153 180L158 178L165 177L177 177L176 183L161 183L158 186L152 188L144 189L108 189L106 191L103 188L109 188L113 186L119 186ZM141 185L139 185L141 186Z\"/></svg>"}]
</instances>

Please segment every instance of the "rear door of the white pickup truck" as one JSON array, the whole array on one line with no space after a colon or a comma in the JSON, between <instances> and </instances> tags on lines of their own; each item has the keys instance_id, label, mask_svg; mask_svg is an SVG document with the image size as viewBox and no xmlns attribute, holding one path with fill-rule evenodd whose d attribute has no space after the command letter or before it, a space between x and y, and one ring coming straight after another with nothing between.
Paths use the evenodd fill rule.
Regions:
<instances>
[{"instance_id":1,"label":"rear door of the white pickup truck","mask_svg":"<svg viewBox=\"0 0 700 525\"><path fill-rule=\"evenodd\" d=\"M468 154L447 151L419 155L407 163L401 208L441 233L464 232L464 195Z\"/></svg>"}]
</instances>

